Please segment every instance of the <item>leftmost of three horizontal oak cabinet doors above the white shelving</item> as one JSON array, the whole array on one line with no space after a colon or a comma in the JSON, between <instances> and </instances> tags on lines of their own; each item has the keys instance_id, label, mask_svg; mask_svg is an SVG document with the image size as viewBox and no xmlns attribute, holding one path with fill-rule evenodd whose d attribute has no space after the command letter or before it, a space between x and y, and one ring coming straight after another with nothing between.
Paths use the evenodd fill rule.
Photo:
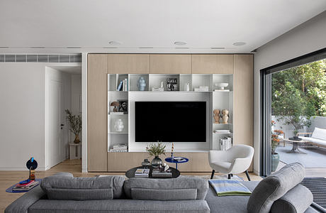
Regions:
<instances>
[{"instance_id":1,"label":"leftmost of three horizontal oak cabinet doors above the white shelving","mask_svg":"<svg viewBox=\"0 0 326 213\"><path fill-rule=\"evenodd\" d=\"M150 73L149 54L108 54L108 73Z\"/></svg>"}]
</instances>

